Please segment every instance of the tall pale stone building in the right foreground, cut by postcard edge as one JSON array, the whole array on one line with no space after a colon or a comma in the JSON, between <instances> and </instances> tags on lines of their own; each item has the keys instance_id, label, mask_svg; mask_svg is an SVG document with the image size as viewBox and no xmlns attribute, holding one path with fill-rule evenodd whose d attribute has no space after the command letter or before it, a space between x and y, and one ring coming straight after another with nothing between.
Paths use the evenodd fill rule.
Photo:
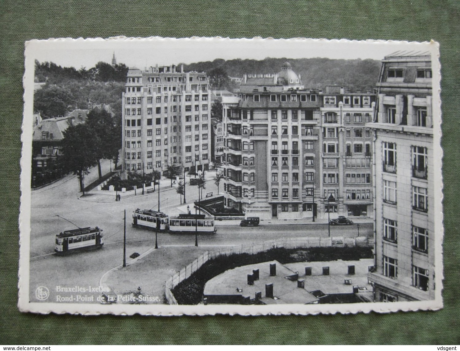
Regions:
<instances>
[{"instance_id":1,"label":"tall pale stone building in the right foreground, cut by postcard edge","mask_svg":"<svg viewBox=\"0 0 460 351\"><path fill-rule=\"evenodd\" d=\"M434 299L431 56L382 61L374 122L375 301ZM381 201L380 201L381 200Z\"/></svg>"}]
</instances>

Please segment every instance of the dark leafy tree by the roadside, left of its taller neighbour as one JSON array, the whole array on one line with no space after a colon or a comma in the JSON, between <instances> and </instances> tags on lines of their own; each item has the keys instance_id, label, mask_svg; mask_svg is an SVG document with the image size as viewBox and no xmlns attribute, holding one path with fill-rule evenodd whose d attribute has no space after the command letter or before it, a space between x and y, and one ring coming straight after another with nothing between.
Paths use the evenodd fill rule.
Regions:
<instances>
[{"instance_id":1,"label":"dark leafy tree by the roadside, left of its taller neighbour","mask_svg":"<svg viewBox=\"0 0 460 351\"><path fill-rule=\"evenodd\" d=\"M95 145L100 144L98 134L88 125L79 124L70 126L63 133L61 162L67 172L74 172L80 180L80 190L85 196L83 178L88 169L98 162L98 150Z\"/></svg>"}]
</instances>

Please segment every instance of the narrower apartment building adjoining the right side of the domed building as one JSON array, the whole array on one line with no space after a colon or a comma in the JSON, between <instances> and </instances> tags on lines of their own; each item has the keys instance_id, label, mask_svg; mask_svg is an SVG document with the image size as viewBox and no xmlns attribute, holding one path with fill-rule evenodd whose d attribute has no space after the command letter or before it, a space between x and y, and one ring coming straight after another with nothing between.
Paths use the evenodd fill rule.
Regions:
<instances>
[{"instance_id":1,"label":"narrower apartment building adjoining the right side of the domed building","mask_svg":"<svg viewBox=\"0 0 460 351\"><path fill-rule=\"evenodd\" d=\"M375 92L327 85L320 101L320 216L373 216L373 135L365 123L372 119Z\"/></svg>"}]
</instances>

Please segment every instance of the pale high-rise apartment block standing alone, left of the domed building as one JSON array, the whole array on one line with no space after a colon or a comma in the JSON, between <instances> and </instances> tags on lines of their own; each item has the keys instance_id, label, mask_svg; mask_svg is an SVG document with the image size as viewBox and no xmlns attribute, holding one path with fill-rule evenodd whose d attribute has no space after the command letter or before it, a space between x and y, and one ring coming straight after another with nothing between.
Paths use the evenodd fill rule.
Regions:
<instances>
[{"instance_id":1,"label":"pale high-rise apartment block standing alone, left of the domed building","mask_svg":"<svg viewBox=\"0 0 460 351\"><path fill-rule=\"evenodd\" d=\"M130 69L123 93L123 174L162 173L172 164L206 170L211 101L205 73L176 67Z\"/></svg>"}]
</instances>

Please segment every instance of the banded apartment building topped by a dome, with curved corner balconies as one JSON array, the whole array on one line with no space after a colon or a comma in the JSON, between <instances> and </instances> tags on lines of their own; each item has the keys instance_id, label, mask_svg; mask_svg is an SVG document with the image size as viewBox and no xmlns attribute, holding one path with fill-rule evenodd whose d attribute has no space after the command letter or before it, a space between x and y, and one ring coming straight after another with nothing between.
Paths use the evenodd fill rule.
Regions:
<instances>
[{"instance_id":1,"label":"banded apartment building topped by a dome, with curved corner balconies","mask_svg":"<svg viewBox=\"0 0 460 351\"><path fill-rule=\"evenodd\" d=\"M244 75L223 97L224 198L264 219L311 218L319 196L320 98L289 63L270 75Z\"/></svg>"}]
</instances>

